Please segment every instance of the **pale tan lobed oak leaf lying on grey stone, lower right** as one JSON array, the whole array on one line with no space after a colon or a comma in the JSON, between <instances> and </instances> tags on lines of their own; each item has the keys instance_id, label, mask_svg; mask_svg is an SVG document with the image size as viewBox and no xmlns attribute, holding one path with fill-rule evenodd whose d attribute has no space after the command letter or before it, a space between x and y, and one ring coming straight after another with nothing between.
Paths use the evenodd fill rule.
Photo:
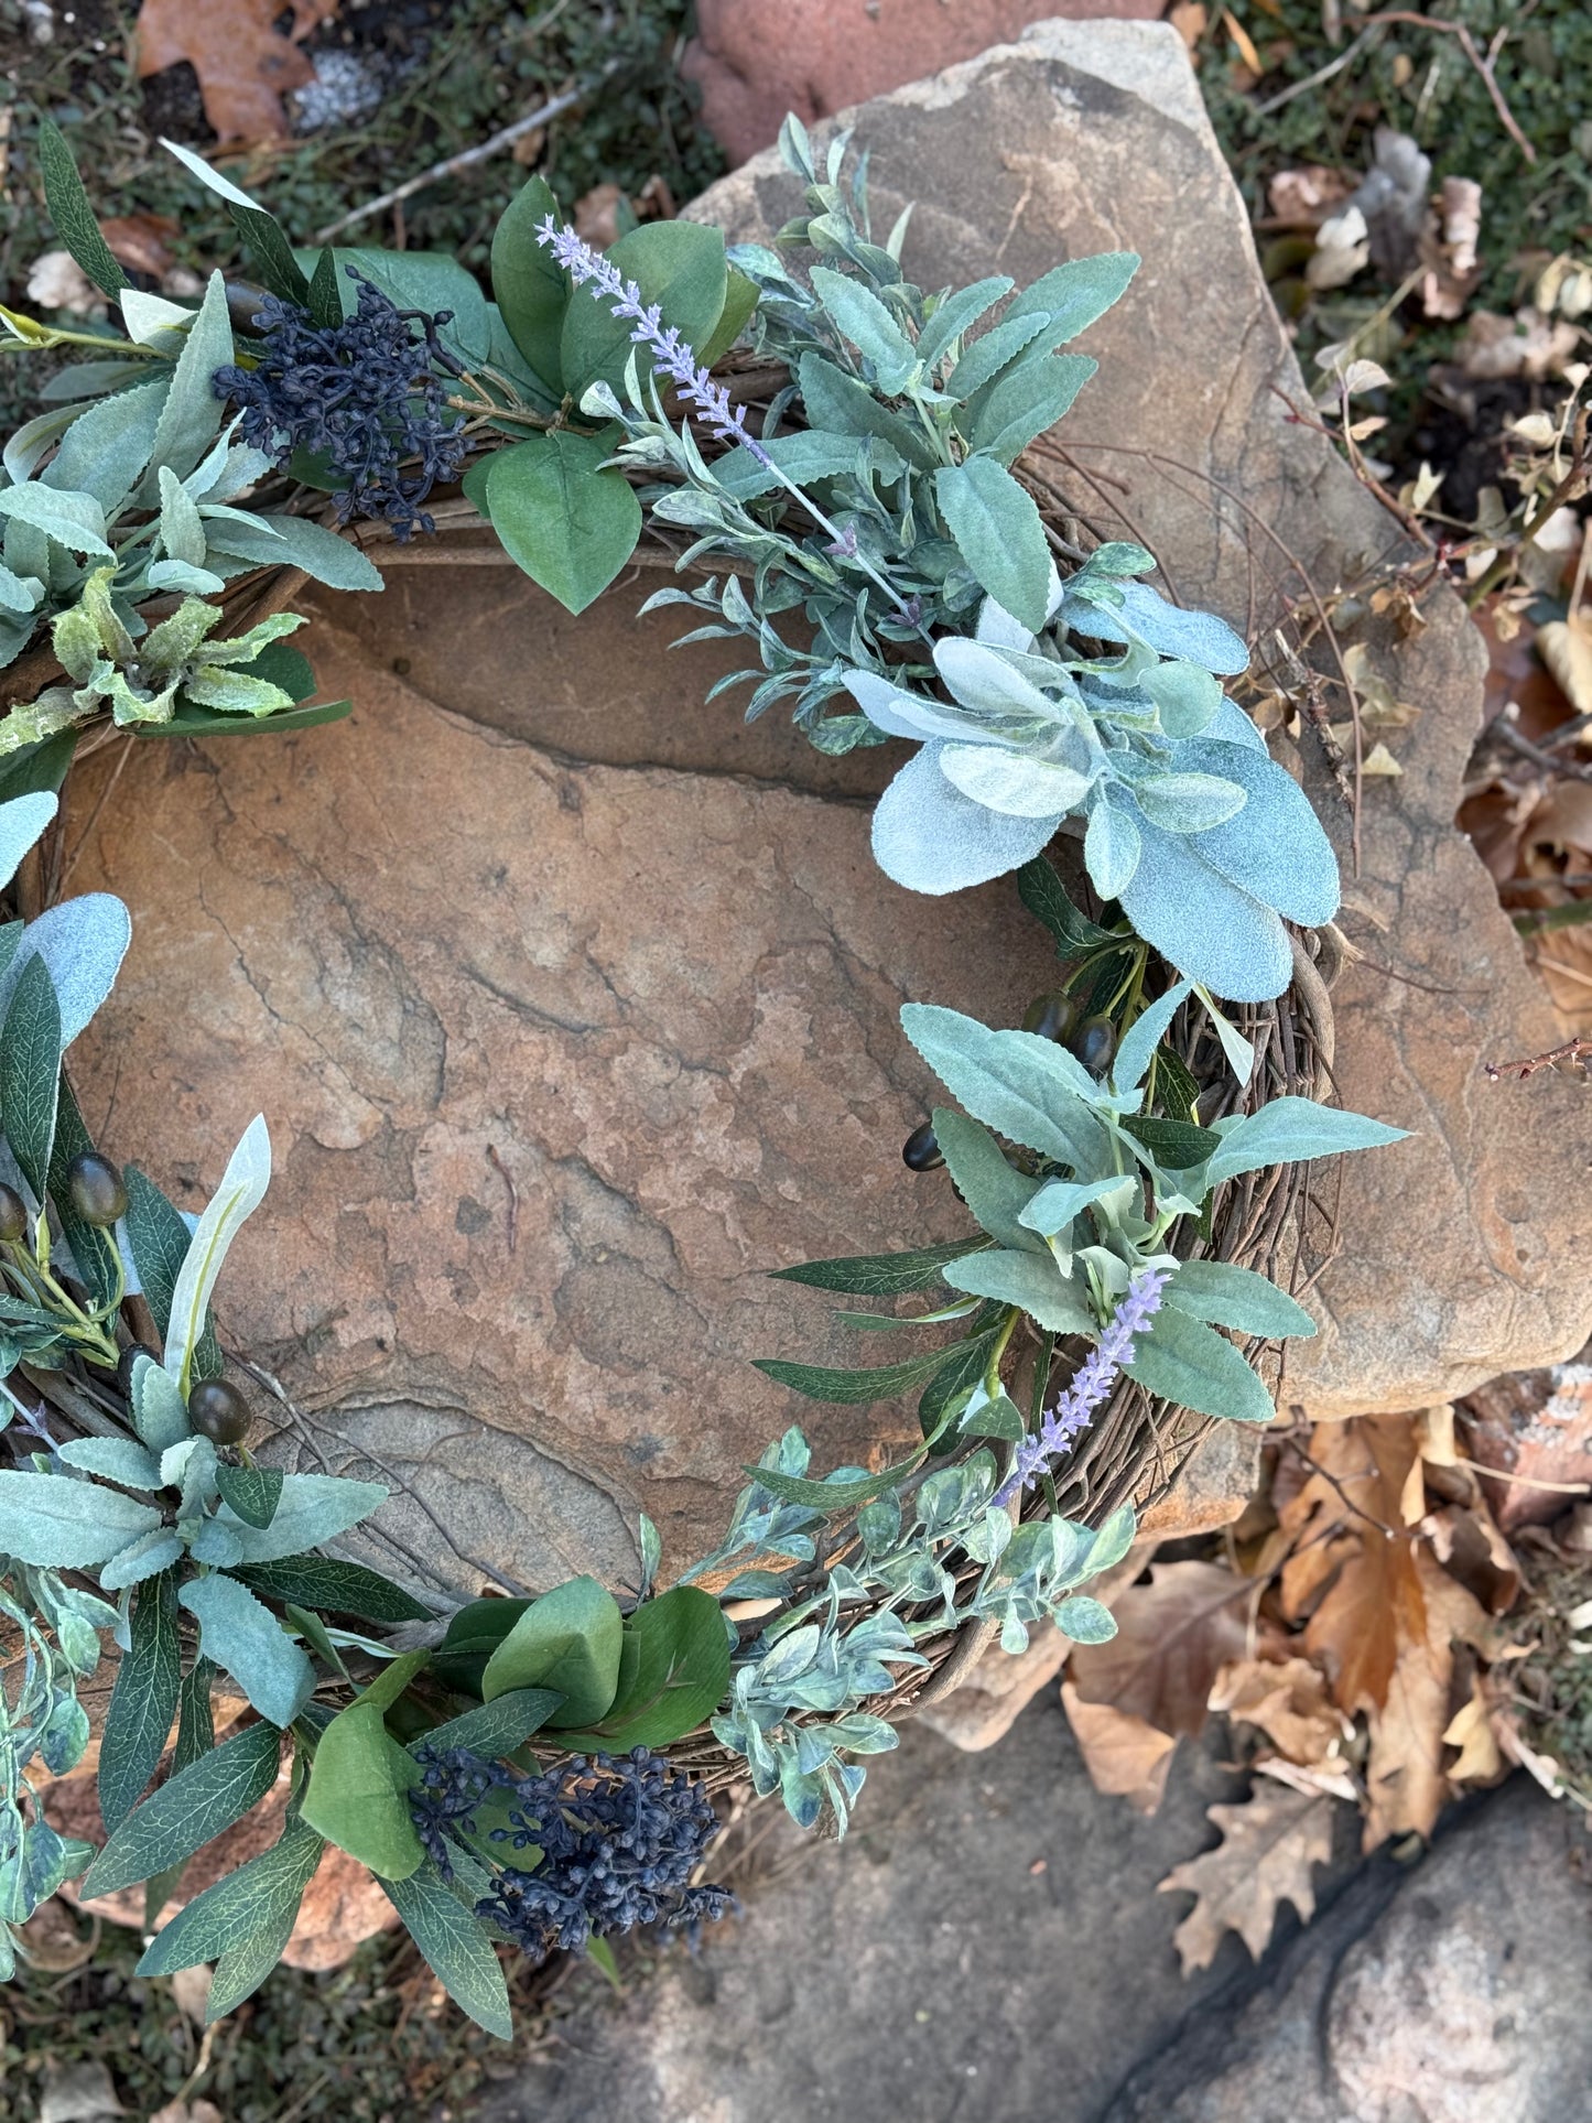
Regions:
<instances>
[{"instance_id":1,"label":"pale tan lobed oak leaf lying on grey stone, lower right","mask_svg":"<svg viewBox=\"0 0 1592 2123\"><path fill-rule=\"evenodd\" d=\"M1327 1864L1333 1853L1333 1800L1320 1794L1267 1785L1242 1807L1208 1807L1206 1813L1223 1841L1174 1866L1159 1889L1195 1896L1174 1934L1187 1977L1210 1968L1223 1932L1238 1932L1259 1962L1278 1902L1293 1902L1308 1923L1316 1913L1312 1866Z\"/></svg>"}]
</instances>

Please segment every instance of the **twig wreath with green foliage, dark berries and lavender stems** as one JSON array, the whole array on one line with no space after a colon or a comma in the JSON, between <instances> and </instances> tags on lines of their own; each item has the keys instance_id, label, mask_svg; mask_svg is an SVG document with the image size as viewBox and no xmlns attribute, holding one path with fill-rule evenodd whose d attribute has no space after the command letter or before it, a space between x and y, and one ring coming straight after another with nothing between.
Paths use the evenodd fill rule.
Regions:
<instances>
[{"instance_id":1,"label":"twig wreath with green foliage, dark berries and lavender stems","mask_svg":"<svg viewBox=\"0 0 1592 2123\"><path fill-rule=\"evenodd\" d=\"M1242 639L1167 603L1144 548L1087 543L1025 454L1095 367L1063 348L1138 259L925 293L904 221L870 231L866 157L843 183L845 136L821 170L794 119L781 144L807 212L775 246L675 221L603 257L531 178L490 301L442 255L299 253L172 149L257 274L176 304L127 284L42 130L55 225L123 329L0 312L15 348L70 357L0 488L0 875L25 915L0 930L0 1913L74 1879L146 1883L153 1919L287 1762L280 1839L140 1964L214 1962L212 2019L276 1964L331 1843L507 2034L505 1940L603 1953L722 1915L726 1788L843 1832L866 1758L991 1639L1110 1637L1085 1588L1136 1503L1212 1422L1267 1422L1280 1342L1314 1331L1282 1287L1310 1161L1397 1136L1322 1102L1331 930L1308 932L1337 868L1223 690ZM295 588L376 590L382 541L482 518L571 611L645 539L681 577L650 605L747 641L724 684L751 684L749 715L790 703L830 754L915 745L875 811L887 877L1015 873L1061 957L1021 1028L902 1011L953 1102L904 1157L949 1170L968 1236L777 1270L925 1299L843 1314L909 1333L900 1361L762 1365L821 1401L919 1388L921 1444L815 1478L788 1429L667 1590L645 1518L620 1596L582 1575L442 1601L338 1556L386 1488L255 1456L210 1310L265 1195L265 1121L193 1221L100 1153L64 1072L129 938L115 898L49 904L74 752L346 713L287 639ZM49 1826L28 1771L83 1758L106 1637L96 1849ZM223 1675L248 1709L217 1737Z\"/></svg>"}]
</instances>

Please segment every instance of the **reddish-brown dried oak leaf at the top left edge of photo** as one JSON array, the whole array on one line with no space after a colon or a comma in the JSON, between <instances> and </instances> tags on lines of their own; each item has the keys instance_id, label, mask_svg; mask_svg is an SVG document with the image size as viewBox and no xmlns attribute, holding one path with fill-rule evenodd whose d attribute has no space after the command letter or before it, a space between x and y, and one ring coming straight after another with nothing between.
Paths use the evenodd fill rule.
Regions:
<instances>
[{"instance_id":1,"label":"reddish-brown dried oak leaf at the top left edge of photo","mask_svg":"<svg viewBox=\"0 0 1592 2123\"><path fill-rule=\"evenodd\" d=\"M282 96L314 81L299 38L335 13L338 0L144 0L134 28L138 76L187 59L219 146L280 140L289 130ZM282 15L293 17L287 36L276 28Z\"/></svg>"}]
</instances>

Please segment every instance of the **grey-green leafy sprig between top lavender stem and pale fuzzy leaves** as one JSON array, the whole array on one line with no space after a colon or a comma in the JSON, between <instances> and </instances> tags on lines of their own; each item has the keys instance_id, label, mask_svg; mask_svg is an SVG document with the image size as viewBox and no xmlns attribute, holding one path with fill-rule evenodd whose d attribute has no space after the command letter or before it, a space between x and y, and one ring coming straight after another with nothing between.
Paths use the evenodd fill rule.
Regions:
<instances>
[{"instance_id":1,"label":"grey-green leafy sprig between top lavender stem and pale fuzzy leaves","mask_svg":"<svg viewBox=\"0 0 1592 2123\"><path fill-rule=\"evenodd\" d=\"M739 673L756 681L747 713L792 696L813 743L847 752L883 735L860 713L828 713L853 669L932 679L932 639L970 628L985 597L1044 624L1051 546L1008 467L1093 376L1093 359L1057 348L1117 301L1138 259L1074 259L1021 293L1006 276L923 293L900 267L904 227L872 242L866 157L849 189L838 180L847 136L824 176L794 119L781 146L811 212L779 231L779 246L807 246L817 263L800 280L779 251L734 244L730 265L758 289L754 348L790 372L762 446L824 522L794 507L754 452L709 465L645 405L622 412L620 459L669 471L671 484L643 499L656 522L694 535L692 560L724 556L749 575L652 603L696 605L709 616L698 633L754 641L762 669ZM1002 321L968 340L998 304ZM800 425L781 433L792 410ZM785 611L809 622L809 645L777 631Z\"/></svg>"}]
</instances>

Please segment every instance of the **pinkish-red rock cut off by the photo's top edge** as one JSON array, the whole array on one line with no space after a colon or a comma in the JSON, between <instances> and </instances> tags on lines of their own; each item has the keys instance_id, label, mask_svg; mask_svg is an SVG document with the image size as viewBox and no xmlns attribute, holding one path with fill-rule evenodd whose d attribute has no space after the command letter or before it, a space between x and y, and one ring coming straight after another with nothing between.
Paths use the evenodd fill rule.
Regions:
<instances>
[{"instance_id":1,"label":"pinkish-red rock cut off by the photo's top edge","mask_svg":"<svg viewBox=\"0 0 1592 2123\"><path fill-rule=\"evenodd\" d=\"M745 161L788 110L809 125L972 59L1046 15L1153 19L1163 0L698 0L681 72L709 132Z\"/></svg>"}]
</instances>

